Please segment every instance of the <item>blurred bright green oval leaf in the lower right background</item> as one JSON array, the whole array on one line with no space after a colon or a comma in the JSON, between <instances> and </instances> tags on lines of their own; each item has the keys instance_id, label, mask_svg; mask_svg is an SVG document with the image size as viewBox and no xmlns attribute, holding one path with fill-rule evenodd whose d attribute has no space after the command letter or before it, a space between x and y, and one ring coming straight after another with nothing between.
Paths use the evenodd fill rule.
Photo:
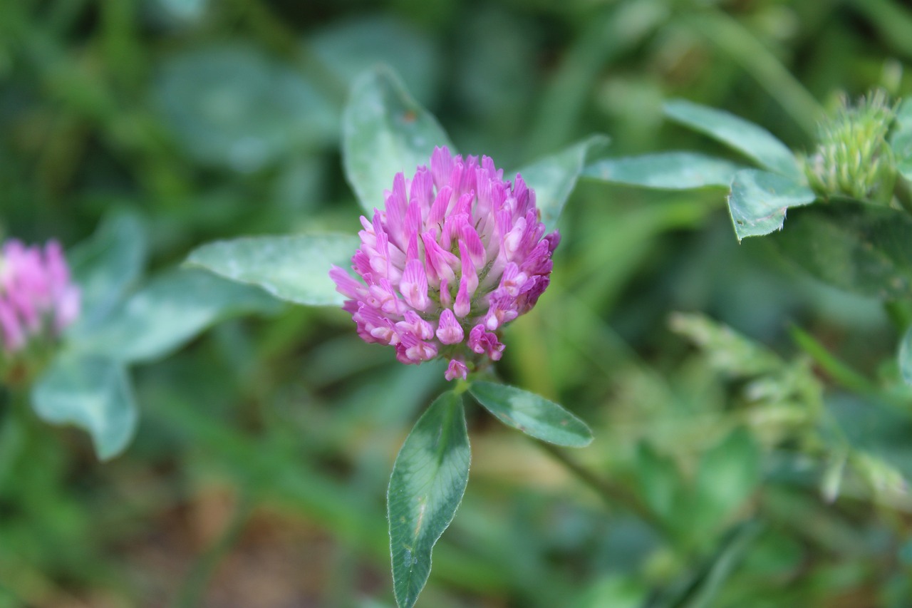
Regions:
<instances>
[{"instance_id":1,"label":"blurred bright green oval leaf in the lower right background","mask_svg":"<svg viewBox=\"0 0 912 608\"><path fill-rule=\"evenodd\" d=\"M760 447L751 433L736 428L703 453L697 472L700 518L718 526L760 485Z\"/></svg>"}]
</instances>

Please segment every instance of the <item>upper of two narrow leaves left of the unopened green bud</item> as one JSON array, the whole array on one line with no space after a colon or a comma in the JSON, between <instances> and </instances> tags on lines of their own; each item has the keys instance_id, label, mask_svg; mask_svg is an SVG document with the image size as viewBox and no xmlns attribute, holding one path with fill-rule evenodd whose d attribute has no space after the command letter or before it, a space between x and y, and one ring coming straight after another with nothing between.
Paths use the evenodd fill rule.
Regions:
<instances>
[{"instance_id":1,"label":"upper of two narrow leaves left of the unopened green bud","mask_svg":"<svg viewBox=\"0 0 912 608\"><path fill-rule=\"evenodd\" d=\"M687 100L668 101L664 109L672 121L709 135L774 173L801 179L801 168L792 151L760 125Z\"/></svg>"}]
</instances>

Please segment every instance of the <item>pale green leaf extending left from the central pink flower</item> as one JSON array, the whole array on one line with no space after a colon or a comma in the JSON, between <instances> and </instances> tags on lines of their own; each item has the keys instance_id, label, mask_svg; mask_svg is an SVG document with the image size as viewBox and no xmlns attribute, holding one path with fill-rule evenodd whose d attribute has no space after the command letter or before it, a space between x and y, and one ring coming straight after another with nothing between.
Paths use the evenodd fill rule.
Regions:
<instances>
[{"instance_id":1,"label":"pale green leaf extending left from the central pink flower","mask_svg":"<svg viewBox=\"0 0 912 608\"><path fill-rule=\"evenodd\" d=\"M187 264L264 288L276 298L309 306L341 306L329 278L332 265L350 266L357 236L251 236L215 241L192 251Z\"/></svg>"}]
</instances>

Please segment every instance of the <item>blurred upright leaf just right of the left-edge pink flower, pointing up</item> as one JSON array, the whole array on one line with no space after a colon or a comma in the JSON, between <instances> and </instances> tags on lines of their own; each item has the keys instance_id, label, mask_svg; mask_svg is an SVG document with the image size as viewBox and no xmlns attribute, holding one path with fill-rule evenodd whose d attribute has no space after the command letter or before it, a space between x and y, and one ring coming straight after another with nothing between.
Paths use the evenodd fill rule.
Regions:
<instances>
[{"instance_id":1,"label":"blurred upright leaf just right of the left-edge pink flower, pointing up","mask_svg":"<svg viewBox=\"0 0 912 608\"><path fill-rule=\"evenodd\" d=\"M79 328L107 317L140 278L146 264L146 232L140 218L128 213L108 215L87 241L67 254L79 286Z\"/></svg>"}]
</instances>

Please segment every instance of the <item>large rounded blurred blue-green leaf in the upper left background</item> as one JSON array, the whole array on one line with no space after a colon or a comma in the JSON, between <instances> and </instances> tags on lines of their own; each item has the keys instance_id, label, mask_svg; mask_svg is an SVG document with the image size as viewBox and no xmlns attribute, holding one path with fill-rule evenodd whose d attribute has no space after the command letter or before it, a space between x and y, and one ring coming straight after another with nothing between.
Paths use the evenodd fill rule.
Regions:
<instances>
[{"instance_id":1,"label":"large rounded blurred blue-green leaf in the upper left background","mask_svg":"<svg viewBox=\"0 0 912 608\"><path fill-rule=\"evenodd\" d=\"M175 55L161 68L154 95L173 136L204 164L253 172L337 137L337 113L325 97L255 47Z\"/></svg>"}]
</instances>

